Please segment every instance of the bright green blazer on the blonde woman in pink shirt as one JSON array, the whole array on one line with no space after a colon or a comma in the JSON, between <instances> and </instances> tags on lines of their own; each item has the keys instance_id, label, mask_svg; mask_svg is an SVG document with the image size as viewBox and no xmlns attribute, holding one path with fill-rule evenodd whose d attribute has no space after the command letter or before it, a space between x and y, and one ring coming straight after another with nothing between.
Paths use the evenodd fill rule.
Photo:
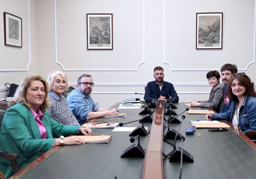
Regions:
<instances>
[{"instance_id":1,"label":"bright green blazer on the blonde woman in pink shirt","mask_svg":"<svg viewBox=\"0 0 256 179\"><path fill-rule=\"evenodd\" d=\"M40 120L46 128L47 139L40 139L40 131L33 114L21 103L9 108L4 115L0 132L0 150L17 153L17 163L21 168L51 149L55 142L53 136L78 134L79 126L60 124L50 117L47 110L43 115L44 118ZM0 159L0 170L7 178L13 175L10 161L7 159Z\"/></svg>"}]
</instances>

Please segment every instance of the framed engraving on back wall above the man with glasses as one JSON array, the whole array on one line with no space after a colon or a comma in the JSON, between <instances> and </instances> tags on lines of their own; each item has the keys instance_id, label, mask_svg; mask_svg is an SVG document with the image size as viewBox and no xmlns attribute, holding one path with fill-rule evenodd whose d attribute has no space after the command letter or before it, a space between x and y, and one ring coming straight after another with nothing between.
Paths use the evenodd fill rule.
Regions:
<instances>
[{"instance_id":1,"label":"framed engraving on back wall above the man with glasses","mask_svg":"<svg viewBox=\"0 0 256 179\"><path fill-rule=\"evenodd\" d=\"M87 50L113 50L113 14L87 14Z\"/></svg>"}]
</instances>

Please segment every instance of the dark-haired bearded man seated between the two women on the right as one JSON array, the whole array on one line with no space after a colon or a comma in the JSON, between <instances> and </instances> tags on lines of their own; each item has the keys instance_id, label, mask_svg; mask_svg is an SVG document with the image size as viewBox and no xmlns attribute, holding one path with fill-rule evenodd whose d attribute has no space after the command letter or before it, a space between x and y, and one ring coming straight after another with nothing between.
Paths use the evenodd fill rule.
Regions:
<instances>
[{"instance_id":1,"label":"dark-haired bearded man seated between the two women on the right","mask_svg":"<svg viewBox=\"0 0 256 179\"><path fill-rule=\"evenodd\" d=\"M222 96L223 96L223 106L219 113L227 112L230 108L231 101L229 101L229 96L227 95L227 84L229 82L229 79L231 78L231 75L233 73L237 73L237 67L236 65L232 64L225 64L220 69L221 72L221 80L223 83L223 90L222 90Z\"/></svg>"}]
</instances>

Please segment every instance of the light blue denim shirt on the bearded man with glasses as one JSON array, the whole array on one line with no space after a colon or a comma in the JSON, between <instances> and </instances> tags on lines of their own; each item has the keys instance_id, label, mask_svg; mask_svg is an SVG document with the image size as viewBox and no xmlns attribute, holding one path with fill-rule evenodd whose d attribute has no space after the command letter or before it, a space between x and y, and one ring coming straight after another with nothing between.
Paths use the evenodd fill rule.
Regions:
<instances>
[{"instance_id":1,"label":"light blue denim shirt on the bearded man with glasses","mask_svg":"<svg viewBox=\"0 0 256 179\"><path fill-rule=\"evenodd\" d=\"M68 106L80 125L89 122L87 114L97 111L100 106L94 102L91 95L85 96L79 88L72 90L67 96Z\"/></svg>"}]
</instances>

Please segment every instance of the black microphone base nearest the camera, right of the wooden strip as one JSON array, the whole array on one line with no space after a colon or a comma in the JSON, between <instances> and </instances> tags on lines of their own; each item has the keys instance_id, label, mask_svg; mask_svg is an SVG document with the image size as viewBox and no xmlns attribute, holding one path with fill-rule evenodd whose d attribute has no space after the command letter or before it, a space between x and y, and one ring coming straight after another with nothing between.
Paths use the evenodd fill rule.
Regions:
<instances>
[{"instance_id":1,"label":"black microphone base nearest the camera, right of the wooden strip","mask_svg":"<svg viewBox=\"0 0 256 179\"><path fill-rule=\"evenodd\" d=\"M174 149L169 155L169 162L180 162L181 148ZM194 162L193 156L183 149L183 162Z\"/></svg>"}]
</instances>

